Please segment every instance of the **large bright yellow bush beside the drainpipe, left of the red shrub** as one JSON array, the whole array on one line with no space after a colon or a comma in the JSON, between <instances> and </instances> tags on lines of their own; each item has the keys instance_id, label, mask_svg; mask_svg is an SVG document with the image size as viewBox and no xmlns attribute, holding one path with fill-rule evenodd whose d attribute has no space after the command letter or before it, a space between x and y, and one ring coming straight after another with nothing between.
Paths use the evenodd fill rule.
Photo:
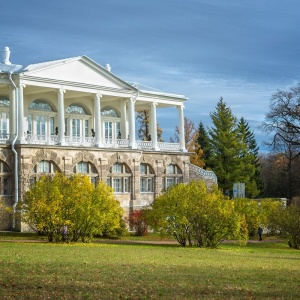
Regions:
<instances>
[{"instance_id":1,"label":"large bright yellow bush beside the drainpipe, left of the red shrub","mask_svg":"<svg viewBox=\"0 0 300 300\"><path fill-rule=\"evenodd\" d=\"M87 176L43 176L25 193L22 219L49 241L89 241L95 234L115 233L123 211L105 183ZM66 232L67 231L67 232Z\"/></svg>"}]
</instances>

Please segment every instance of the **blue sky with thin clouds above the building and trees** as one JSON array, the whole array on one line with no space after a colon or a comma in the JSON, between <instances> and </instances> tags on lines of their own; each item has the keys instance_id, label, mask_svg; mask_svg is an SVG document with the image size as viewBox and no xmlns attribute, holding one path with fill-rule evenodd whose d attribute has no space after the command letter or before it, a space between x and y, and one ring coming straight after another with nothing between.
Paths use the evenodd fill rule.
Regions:
<instances>
[{"instance_id":1,"label":"blue sky with thin clouds above the building and trees","mask_svg":"<svg viewBox=\"0 0 300 300\"><path fill-rule=\"evenodd\" d=\"M185 116L211 127L223 97L261 152L277 89L299 81L299 0L14 0L0 10L0 49L14 64L86 55L112 73L185 95ZM157 111L163 138L177 111Z\"/></svg>"}]
</instances>

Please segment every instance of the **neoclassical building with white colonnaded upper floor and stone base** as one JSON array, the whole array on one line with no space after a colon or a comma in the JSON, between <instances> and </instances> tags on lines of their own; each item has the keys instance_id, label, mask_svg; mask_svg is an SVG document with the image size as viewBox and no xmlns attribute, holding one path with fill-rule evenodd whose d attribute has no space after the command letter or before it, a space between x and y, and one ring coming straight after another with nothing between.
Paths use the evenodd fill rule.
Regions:
<instances>
[{"instance_id":1,"label":"neoclassical building with white colonnaded upper floor and stone base","mask_svg":"<svg viewBox=\"0 0 300 300\"><path fill-rule=\"evenodd\" d=\"M22 66L4 47L0 63L0 230L22 230L6 213L41 174L83 173L112 186L125 215L169 186L215 181L190 164L182 95L162 93L114 75L86 56ZM159 142L156 114L177 108L179 143ZM150 115L151 140L136 135L136 111Z\"/></svg>"}]
</instances>

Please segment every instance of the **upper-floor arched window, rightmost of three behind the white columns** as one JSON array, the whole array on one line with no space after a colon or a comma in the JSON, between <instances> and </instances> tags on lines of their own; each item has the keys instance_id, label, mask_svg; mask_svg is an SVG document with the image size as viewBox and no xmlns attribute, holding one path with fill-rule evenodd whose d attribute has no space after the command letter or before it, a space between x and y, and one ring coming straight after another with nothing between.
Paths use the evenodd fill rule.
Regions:
<instances>
[{"instance_id":1,"label":"upper-floor arched window, rightmost of three behind the white columns","mask_svg":"<svg viewBox=\"0 0 300 300\"><path fill-rule=\"evenodd\" d=\"M101 109L101 116L104 130L103 136L106 143L111 143L113 140L121 138L120 114L114 108L106 106Z\"/></svg>"}]
</instances>

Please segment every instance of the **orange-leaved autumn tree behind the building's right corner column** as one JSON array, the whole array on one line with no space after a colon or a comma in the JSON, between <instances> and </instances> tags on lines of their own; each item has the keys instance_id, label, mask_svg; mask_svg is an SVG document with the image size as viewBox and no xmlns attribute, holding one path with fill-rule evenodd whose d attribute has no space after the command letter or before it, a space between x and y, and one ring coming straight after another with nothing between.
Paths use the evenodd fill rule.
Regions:
<instances>
[{"instance_id":1,"label":"orange-leaved autumn tree behind the building's right corner column","mask_svg":"<svg viewBox=\"0 0 300 300\"><path fill-rule=\"evenodd\" d=\"M174 140L172 138L170 140L171 142L179 142L178 126L175 128ZM184 117L184 142L187 151L193 153L190 158L191 163L202 168L204 166L204 153L198 143L198 131L195 124L187 117Z\"/></svg>"}]
</instances>

